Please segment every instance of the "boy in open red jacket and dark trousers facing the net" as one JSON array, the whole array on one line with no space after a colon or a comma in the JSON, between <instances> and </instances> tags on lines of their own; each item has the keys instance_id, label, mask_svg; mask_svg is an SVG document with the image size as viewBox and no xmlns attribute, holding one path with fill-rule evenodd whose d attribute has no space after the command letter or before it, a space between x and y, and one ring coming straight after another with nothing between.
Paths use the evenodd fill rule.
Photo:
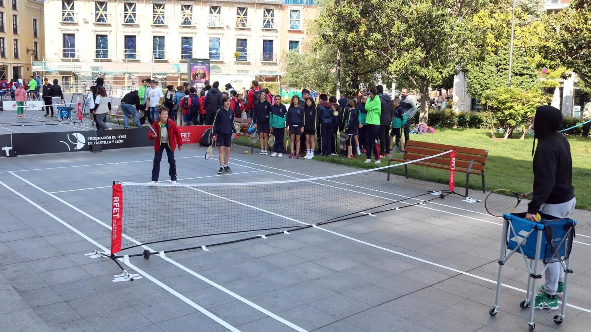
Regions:
<instances>
[{"instance_id":1,"label":"boy in open red jacket and dark trousers facing the net","mask_svg":"<svg viewBox=\"0 0 591 332\"><path fill-rule=\"evenodd\" d=\"M181 140L181 133L178 130L177 124L173 120L168 119L168 109L160 107L158 109L157 120L152 124L156 133L151 130L148 133L148 139L154 140L154 166L152 166L152 183L158 182L160 175L160 161L162 160L162 153L166 150L168 157L168 175L173 183L177 183L177 164L174 160L174 149L178 145L178 150L183 147Z\"/></svg>"}]
</instances>

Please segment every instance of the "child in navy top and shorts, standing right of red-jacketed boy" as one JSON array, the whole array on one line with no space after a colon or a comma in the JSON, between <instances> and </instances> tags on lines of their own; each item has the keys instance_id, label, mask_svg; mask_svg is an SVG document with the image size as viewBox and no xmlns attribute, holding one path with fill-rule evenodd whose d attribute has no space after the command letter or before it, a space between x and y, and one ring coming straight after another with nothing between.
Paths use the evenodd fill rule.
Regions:
<instances>
[{"instance_id":1,"label":"child in navy top and shorts, standing right of red-jacketed boy","mask_svg":"<svg viewBox=\"0 0 591 332\"><path fill-rule=\"evenodd\" d=\"M213 118L212 133L215 135L215 141L219 148L220 170L217 174L224 172L232 173L228 166L230 159L230 147L232 146L232 137L236 138L236 127L234 126L234 112L230 109L230 97L222 97L222 107L220 107Z\"/></svg>"}]
</instances>

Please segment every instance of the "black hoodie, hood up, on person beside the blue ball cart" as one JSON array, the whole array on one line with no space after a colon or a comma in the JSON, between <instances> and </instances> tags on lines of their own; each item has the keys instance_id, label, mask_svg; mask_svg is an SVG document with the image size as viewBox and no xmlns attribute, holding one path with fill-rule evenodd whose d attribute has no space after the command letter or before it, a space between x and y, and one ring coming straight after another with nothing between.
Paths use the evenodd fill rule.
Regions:
<instances>
[{"instance_id":1,"label":"black hoodie, hood up, on person beside the blue ball cart","mask_svg":"<svg viewBox=\"0 0 591 332\"><path fill-rule=\"evenodd\" d=\"M534 193L527 212L537 213L540 206L560 204L574 198L573 163L570 144L558 132L562 113L556 107L540 106L535 111L534 146ZM532 147L533 149L533 147Z\"/></svg>"}]
</instances>

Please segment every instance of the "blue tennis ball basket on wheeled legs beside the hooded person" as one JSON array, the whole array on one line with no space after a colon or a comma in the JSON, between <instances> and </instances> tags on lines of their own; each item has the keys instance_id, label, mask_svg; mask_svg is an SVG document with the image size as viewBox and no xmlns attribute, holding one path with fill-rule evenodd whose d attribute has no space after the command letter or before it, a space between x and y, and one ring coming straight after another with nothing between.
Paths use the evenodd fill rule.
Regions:
<instances>
[{"instance_id":1,"label":"blue tennis ball basket on wheeled legs beside the hooded person","mask_svg":"<svg viewBox=\"0 0 591 332\"><path fill-rule=\"evenodd\" d=\"M541 279L548 264L559 263L564 271L564 293L560 314L554 316L554 323L561 324L566 313L567 290L569 285L570 252L573 248L574 228L577 221L569 218L556 218L540 213L541 221L533 222L525 219L526 213L505 213L503 215L503 232L501 237L501 255L499 272L496 280L495 305L489 311L491 316L499 312L501 303L501 287L505 262L515 253L521 254L529 271L525 300L519 307L530 308L528 331L535 330L534 307L536 283ZM540 262L541 261L541 262ZM532 304L532 301L534 304Z\"/></svg>"}]
</instances>

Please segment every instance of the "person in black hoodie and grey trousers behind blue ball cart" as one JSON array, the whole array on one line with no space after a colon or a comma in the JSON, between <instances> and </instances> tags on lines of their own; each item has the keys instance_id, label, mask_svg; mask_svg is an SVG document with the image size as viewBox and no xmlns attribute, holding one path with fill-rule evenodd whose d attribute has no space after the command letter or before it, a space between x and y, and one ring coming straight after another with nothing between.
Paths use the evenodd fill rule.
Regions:
<instances>
[{"instance_id":1,"label":"person in black hoodie and grey trousers behind blue ball cart","mask_svg":"<svg viewBox=\"0 0 591 332\"><path fill-rule=\"evenodd\" d=\"M574 197L573 164L570 144L558 132L562 113L556 107L540 106L534 116L534 190L528 204L525 219L538 221L536 213L543 212L557 218L568 218L577 203ZM535 140L538 146L535 148ZM563 271L560 262L550 263L544 272L544 292L535 297L535 309L558 309L556 294L564 291Z\"/></svg>"}]
</instances>

